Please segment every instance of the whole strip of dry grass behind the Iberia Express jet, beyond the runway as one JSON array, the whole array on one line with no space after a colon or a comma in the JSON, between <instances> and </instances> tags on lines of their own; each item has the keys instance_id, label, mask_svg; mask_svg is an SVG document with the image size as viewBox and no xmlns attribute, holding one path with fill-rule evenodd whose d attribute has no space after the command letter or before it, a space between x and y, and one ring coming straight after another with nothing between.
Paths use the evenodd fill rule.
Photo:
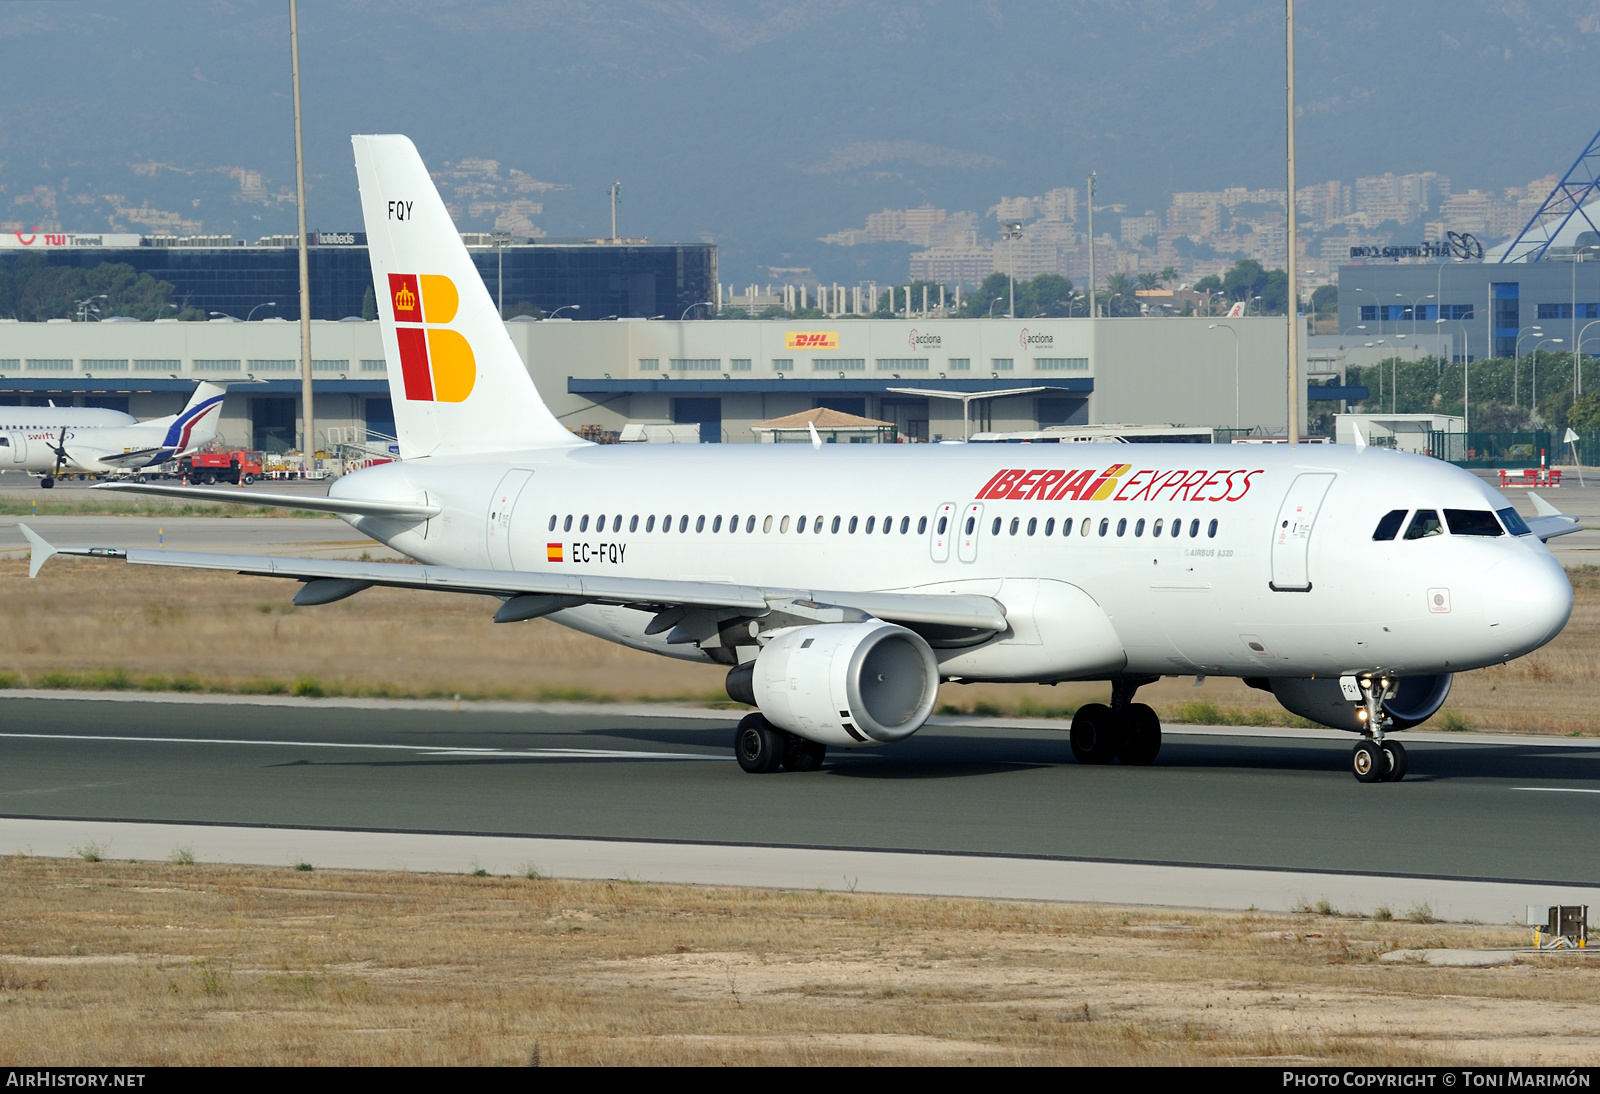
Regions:
<instances>
[{"instance_id":1,"label":"whole strip of dry grass behind the Iberia Express jet, beyond the runway","mask_svg":"<svg viewBox=\"0 0 1600 1094\"><path fill-rule=\"evenodd\" d=\"M547 621L496 625L494 601L373 589L296 609L267 577L155 571L58 558L26 581L0 561L0 613L14 640L3 686L90 686L469 699L726 702L725 672L642 654ZM1600 733L1600 571L1574 571L1578 603L1544 649L1456 677L1429 729ZM83 605L94 606L83 611ZM944 713L1069 718L1106 685L946 685ZM1237 680L1162 680L1139 693L1165 721L1307 725Z\"/></svg>"}]
</instances>

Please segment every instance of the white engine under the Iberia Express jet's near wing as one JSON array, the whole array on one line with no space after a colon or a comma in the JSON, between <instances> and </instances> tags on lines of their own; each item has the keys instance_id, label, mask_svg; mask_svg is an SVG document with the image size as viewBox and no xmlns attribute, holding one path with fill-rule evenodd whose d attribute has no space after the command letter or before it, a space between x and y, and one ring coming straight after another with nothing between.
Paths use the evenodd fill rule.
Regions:
<instances>
[{"instance_id":1,"label":"white engine under the Iberia Express jet's near wing","mask_svg":"<svg viewBox=\"0 0 1600 1094\"><path fill-rule=\"evenodd\" d=\"M728 673L728 694L810 741L888 744L933 713L939 662L922 635L880 619L795 627Z\"/></svg>"}]
</instances>

